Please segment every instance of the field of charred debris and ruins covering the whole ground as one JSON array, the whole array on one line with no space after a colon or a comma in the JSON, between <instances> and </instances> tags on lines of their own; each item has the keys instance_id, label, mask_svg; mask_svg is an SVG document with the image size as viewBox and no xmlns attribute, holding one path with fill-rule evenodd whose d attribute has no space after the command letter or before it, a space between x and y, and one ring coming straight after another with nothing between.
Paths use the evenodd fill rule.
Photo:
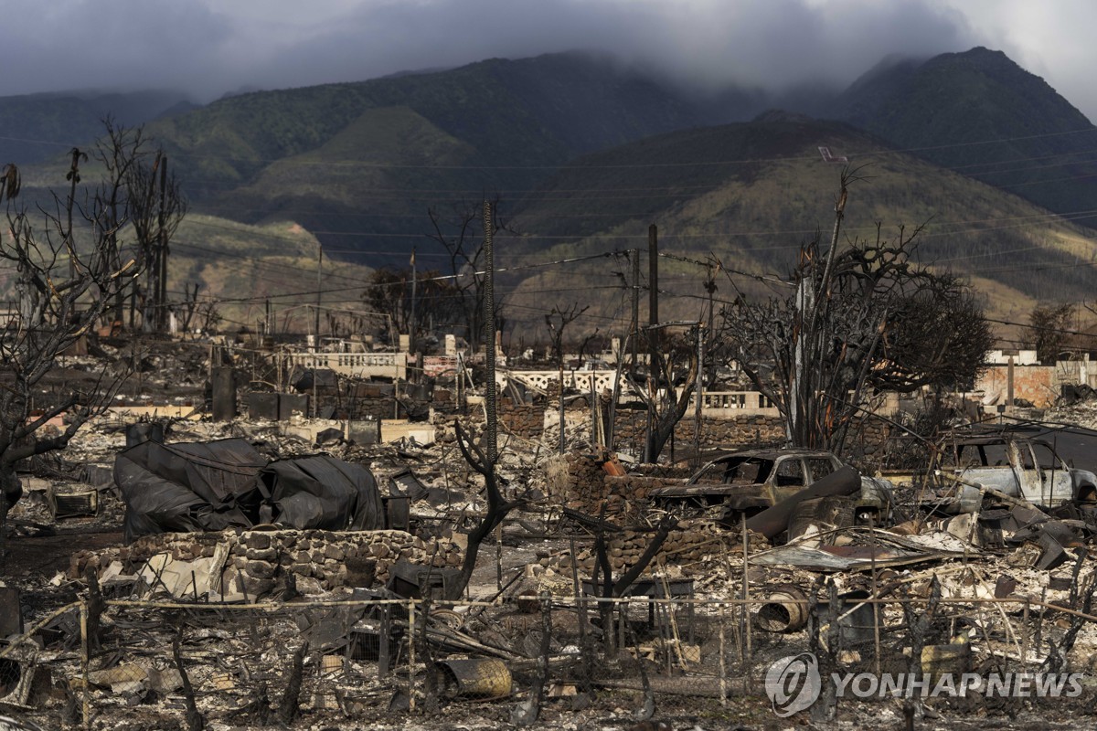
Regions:
<instances>
[{"instance_id":1,"label":"field of charred debris and ruins covering the whole ground","mask_svg":"<svg viewBox=\"0 0 1097 731\"><path fill-rule=\"evenodd\" d=\"M101 338L66 356L66 378L136 375L22 465L0 704L89 728L769 728L766 670L798 652L1089 671L1084 401L1071 426L955 409L932 439L901 409L839 457L782 446L730 389L640 464L645 411L609 408L612 368L563 389L500 369L491 444L478 364L395 355ZM904 703L803 712L1039 712Z\"/></svg>"}]
</instances>

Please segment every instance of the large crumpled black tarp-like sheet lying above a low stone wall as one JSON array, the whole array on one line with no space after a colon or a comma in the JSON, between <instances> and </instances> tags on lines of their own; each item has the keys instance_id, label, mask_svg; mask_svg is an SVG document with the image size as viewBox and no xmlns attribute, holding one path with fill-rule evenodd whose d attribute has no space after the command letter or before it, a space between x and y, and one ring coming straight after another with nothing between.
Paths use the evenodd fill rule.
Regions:
<instances>
[{"instance_id":1,"label":"large crumpled black tarp-like sheet lying above a low stone wall","mask_svg":"<svg viewBox=\"0 0 1097 731\"><path fill-rule=\"evenodd\" d=\"M125 540L156 533L250 528L384 528L381 493L364 467L327 455L271 462L245 439L159 444L117 455Z\"/></svg>"}]
</instances>

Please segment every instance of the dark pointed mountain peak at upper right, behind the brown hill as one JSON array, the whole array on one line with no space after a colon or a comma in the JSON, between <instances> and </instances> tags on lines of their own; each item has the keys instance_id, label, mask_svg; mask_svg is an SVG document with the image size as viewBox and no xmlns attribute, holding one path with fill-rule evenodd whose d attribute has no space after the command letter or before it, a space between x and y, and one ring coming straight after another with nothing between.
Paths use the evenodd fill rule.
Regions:
<instances>
[{"instance_id":1,"label":"dark pointed mountain peak at upper right, behind the brown hill","mask_svg":"<svg viewBox=\"0 0 1097 731\"><path fill-rule=\"evenodd\" d=\"M834 115L894 147L1097 226L1097 128L1043 79L996 50L893 59Z\"/></svg>"}]
</instances>

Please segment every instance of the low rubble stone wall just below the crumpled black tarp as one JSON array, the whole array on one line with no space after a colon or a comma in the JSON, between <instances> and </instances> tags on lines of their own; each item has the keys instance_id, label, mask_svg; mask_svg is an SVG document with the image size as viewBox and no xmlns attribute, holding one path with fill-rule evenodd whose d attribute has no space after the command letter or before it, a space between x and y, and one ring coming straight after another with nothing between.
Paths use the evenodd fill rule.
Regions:
<instances>
[{"instance_id":1,"label":"low rubble stone wall just below the crumpled black tarp","mask_svg":"<svg viewBox=\"0 0 1097 731\"><path fill-rule=\"evenodd\" d=\"M430 566L433 559L436 567L459 567L463 557L451 540L423 540L403 530L169 533L143 536L131 546L79 551L70 560L69 576L83 576L89 567L102 574L114 561L122 563L124 573L140 572L160 553L177 562L218 557L222 593L236 591L251 599L284 585L291 573L298 591L309 594L344 585L384 585L400 559L420 566Z\"/></svg>"}]
</instances>

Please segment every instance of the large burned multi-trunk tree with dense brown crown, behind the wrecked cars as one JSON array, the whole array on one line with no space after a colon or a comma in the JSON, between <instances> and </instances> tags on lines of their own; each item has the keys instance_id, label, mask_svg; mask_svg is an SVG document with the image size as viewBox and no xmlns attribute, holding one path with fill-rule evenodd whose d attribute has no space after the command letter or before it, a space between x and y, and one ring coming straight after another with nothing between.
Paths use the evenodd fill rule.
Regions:
<instances>
[{"instance_id":1,"label":"large burned multi-trunk tree with dense brown crown, behind the wrecked cars","mask_svg":"<svg viewBox=\"0 0 1097 731\"><path fill-rule=\"evenodd\" d=\"M720 335L755 387L780 410L788 441L841 450L867 397L881 390L966 386L993 339L958 277L914 261L920 227L895 241L839 249L842 173L829 247L801 247L785 294L724 308Z\"/></svg>"}]
</instances>

